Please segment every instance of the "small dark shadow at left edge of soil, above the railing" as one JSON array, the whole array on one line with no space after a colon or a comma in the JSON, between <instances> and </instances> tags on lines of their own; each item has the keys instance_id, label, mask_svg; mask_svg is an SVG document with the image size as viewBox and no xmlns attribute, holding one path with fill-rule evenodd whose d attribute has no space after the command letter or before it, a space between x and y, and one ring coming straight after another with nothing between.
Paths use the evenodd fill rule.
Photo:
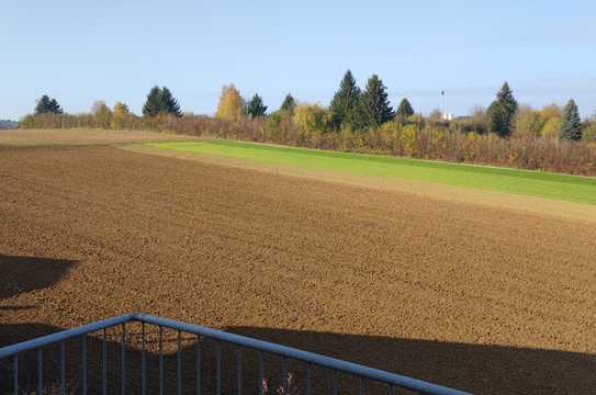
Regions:
<instances>
[{"instance_id":1,"label":"small dark shadow at left edge of soil, above the railing","mask_svg":"<svg viewBox=\"0 0 596 395\"><path fill-rule=\"evenodd\" d=\"M0 300L48 287L66 275L76 264L77 261L68 259L0 255L0 273L2 273Z\"/></svg>"}]
</instances>

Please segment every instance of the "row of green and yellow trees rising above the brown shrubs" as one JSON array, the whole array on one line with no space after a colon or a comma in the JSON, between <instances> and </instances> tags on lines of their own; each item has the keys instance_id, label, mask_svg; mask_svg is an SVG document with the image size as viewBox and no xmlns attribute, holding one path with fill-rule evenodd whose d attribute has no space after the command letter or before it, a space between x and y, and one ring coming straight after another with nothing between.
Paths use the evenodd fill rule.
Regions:
<instances>
[{"instance_id":1,"label":"row of green and yellow trees rising above the brown shrubs","mask_svg":"<svg viewBox=\"0 0 596 395\"><path fill-rule=\"evenodd\" d=\"M63 113L56 99L43 95L36 102L33 116ZM102 101L97 102L91 114L101 127L122 128L138 123L139 120L126 104L120 102L113 110ZM150 89L143 105L143 119L147 125L155 124L158 116L183 115L178 100L167 87L156 86ZM228 84L222 89L215 116L230 122L263 117L268 121L269 127L280 122L292 122L299 127L316 133L337 133L342 129L364 132L387 123L420 125L426 122L436 127L454 126L463 133L494 133L504 138L516 134L558 137L561 140L574 142L583 138L591 142L596 138L595 117L582 122L573 99L563 109L550 105L536 111L518 105L509 84L505 82L486 110L475 109L470 116L447 121L439 110L432 111L426 117L416 113L407 98L403 98L394 110L389 100L387 88L379 76L372 75L361 89L350 70L344 75L338 90L327 106L318 103L299 103L288 93L280 108L268 113L268 106L259 94L246 100L234 84ZM31 115L21 123L24 126L31 124L30 117Z\"/></svg>"}]
</instances>

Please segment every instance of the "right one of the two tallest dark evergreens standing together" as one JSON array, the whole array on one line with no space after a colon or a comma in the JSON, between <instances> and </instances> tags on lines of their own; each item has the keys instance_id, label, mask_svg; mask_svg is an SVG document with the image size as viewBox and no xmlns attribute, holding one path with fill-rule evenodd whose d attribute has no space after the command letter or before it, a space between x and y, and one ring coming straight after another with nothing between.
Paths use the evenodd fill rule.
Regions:
<instances>
[{"instance_id":1,"label":"right one of the two tallest dark evergreens standing together","mask_svg":"<svg viewBox=\"0 0 596 395\"><path fill-rule=\"evenodd\" d=\"M395 114L389 102L389 95L383 81L372 75L367 82L367 89L360 97L362 106L362 125L376 127L390 121Z\"/></svg>"}]
</instances>

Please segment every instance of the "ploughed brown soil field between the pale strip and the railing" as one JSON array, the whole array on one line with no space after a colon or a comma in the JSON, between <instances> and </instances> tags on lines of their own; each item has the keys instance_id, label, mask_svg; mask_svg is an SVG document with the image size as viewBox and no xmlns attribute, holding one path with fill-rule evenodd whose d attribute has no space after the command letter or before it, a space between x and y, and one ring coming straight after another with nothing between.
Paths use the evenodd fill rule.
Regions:
<instances>
[{"instance_id":1,"label":"ploughed brown soil field between the pale strip and the railing","mask_svg":"<svg viewBox=\"0 0 596 395\"><path fill-rule=\"evenodd\" d=\"M0 147L0 345L140 311L477 393L596 387L594 225L106 146Z\"/></svg>"}]
</instances>

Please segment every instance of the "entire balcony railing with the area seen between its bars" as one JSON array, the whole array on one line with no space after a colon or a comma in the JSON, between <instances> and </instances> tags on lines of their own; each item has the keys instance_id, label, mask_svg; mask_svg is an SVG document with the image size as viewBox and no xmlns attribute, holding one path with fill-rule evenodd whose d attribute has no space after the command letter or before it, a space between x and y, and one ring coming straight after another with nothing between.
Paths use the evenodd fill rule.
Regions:
<instances>
[{"instance_id":1,"label":"entire balcony railing with the area seen between its bars","mask_svg":"<svg viewBox=\"0 0 596 395\"><path fill-rule=\"evenodd\" d=\"M0 364L4 369L0 395L464 394L146 314L127 314L1 348ZM266 371L277 371L278 380L268 379Z\"/></svg>"}]
</instances>

